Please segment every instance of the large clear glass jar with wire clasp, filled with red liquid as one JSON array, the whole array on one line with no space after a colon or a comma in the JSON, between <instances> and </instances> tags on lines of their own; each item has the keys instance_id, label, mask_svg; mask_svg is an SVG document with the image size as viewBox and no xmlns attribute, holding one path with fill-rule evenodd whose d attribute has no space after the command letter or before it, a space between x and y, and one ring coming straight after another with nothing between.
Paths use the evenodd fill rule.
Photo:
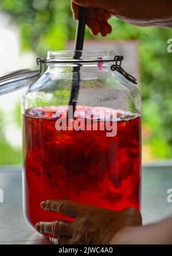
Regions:
<instances>
[{"instance_id":1,"label":"large clear glass jar with wire clasp, filled with red liquid","mask_svg":"<svg viewBox=\"0 0 172 256\"><path fill-rule=\"evenodd\" d=\"M24 209L32 226L68 219L42 210L45 199L139 209L139 91L111 70L114 52L83 51L82 63L73 55L49 51L48 69L23 97Z\"/></svg>"}]
</instances>

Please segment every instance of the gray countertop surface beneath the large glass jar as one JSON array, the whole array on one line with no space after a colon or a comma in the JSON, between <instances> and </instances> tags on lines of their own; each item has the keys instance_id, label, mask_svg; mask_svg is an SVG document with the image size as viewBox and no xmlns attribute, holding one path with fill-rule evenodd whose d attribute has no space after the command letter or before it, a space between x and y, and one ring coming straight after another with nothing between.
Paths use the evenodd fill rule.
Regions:
<instances>
[{"instance_id":1,"label":"gray countertop surface beneath the large glass jar","mask_svg":"<svg viewBox=\"0 0 172 256\"><path fill-rule=\"evenodd\" d=\"M34 232L22 213L21 168L0 168L0 244L46 244L43 236ZM172 166L151 165L142 168L143 223L162 220L172 214L167 202L167 190L172 189Z\"/></svg>"}]
</instances>

